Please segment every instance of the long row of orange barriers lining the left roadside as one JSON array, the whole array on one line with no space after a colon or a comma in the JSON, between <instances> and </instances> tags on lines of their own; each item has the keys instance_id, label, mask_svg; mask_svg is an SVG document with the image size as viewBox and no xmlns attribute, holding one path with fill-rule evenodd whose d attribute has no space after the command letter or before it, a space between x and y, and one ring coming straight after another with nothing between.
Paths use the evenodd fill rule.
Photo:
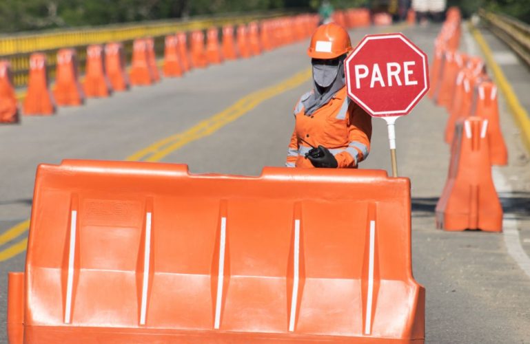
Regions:
<instances>
[{"instance_id":1,"label":"long row of orange barriers lining the left roadside","mask_svg":"<svg viewBox=\"0 0 530 344\"><path fill-rule=\"evenodd\" d=\"M217 28L207 30L206 39L203 31L192 32L189 45L184 32L169 35L165 37L163 74L176 77L192 68L255 56L305 39L317 24L318 17L315 15L300 14L238 25L236 30L233 25L225 25L221 43ZM57 105L82 105L85 98L108 97L112 92L124 91L131 85L151 85L161 78L152 38L134 40L129 73L126 72L121 43L89 45L82 85L78 71L76 51L70 48L59 50L55 86L50 92L45 54L31 54L23 114L51 115L55 113ZM10 74L8 61L0 61L0 122L17 122L19 117Z\"/></svg>"}]
</instances>

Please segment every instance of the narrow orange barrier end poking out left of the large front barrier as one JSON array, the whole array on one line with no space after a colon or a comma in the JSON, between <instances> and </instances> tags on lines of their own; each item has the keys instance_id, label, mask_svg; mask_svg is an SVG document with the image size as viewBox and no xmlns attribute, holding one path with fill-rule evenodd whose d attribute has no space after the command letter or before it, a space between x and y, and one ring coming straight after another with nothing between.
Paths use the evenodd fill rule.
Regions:
<instances>
[{"instance_id":1,"label":"narrow orange barrier end poking out left of the large front barrier","mask_svg":"<svg viewBox=\"0 0 530 344\"><path fill-rule=\"evenodd\" d=\"M8 343L22 344L24 339L24 273L8 273Z\"/></svg>"}]
</instances>

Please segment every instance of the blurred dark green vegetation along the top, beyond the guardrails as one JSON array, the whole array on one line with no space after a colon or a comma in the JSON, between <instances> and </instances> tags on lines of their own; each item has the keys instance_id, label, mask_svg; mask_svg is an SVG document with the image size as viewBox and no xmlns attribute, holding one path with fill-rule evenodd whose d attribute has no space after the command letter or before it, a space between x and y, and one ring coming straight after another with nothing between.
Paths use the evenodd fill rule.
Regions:
<instances>
[{"instance_id":1,"label":"blurred dark green vegetation along the top, beyond the guardrails","mask_svg":"<svg viewBox=\"0 0 530 344\"><path fill-rule=\"evenodd\" d=\"M0 32L108 25L202 14L280 8L317 10L320 0L0 0ZM369 0L330 0L334 8L370 6ZM384 1L383 1L384 2ZM482 7L530 23L529 0L449 0L465 15Z\"/></svg>"}]
</instances>

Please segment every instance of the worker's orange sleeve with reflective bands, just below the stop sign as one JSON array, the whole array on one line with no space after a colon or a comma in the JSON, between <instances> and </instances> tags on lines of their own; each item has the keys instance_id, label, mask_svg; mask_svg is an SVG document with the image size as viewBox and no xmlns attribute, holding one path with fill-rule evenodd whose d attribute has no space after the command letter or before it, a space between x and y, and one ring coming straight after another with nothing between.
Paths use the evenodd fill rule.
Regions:
<instances>
[{"instance_id":1,"label":"worker's orange sleeve with reflective bands, just below the stop sign","mask_svg":"<svg viewBox=\"0 0 530 344\"><path fill-rule=\"evenodd\" d=\"M335 155L339 168L356 167L370 151L371 116L353 102L348 109L347 126L348 147Z\"/></svg>"}]
</instances>

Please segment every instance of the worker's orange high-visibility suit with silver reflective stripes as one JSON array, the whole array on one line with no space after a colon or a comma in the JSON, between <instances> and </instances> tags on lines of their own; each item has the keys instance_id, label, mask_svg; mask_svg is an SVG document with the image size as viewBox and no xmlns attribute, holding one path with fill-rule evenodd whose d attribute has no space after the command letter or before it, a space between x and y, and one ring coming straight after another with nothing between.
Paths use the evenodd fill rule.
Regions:
<instances>
[{"instance_id":1,"label":"worker's orange high-visibility suit with silver reflective stripes","mask_svg":"<svg viewBox=\"0 0 530 344\"><path fill-rule=\"evenodd\" d=\"M371 117L346 95L346 87L339 89L331 100L311 116L305 115L302 101L311 92L304 94L296 107L296 123L287 150L287 167L313 167L305 158L311 147L322 145L335 156L339 168L356 168L370 151Z\"/></svg>"}]
</instances>

